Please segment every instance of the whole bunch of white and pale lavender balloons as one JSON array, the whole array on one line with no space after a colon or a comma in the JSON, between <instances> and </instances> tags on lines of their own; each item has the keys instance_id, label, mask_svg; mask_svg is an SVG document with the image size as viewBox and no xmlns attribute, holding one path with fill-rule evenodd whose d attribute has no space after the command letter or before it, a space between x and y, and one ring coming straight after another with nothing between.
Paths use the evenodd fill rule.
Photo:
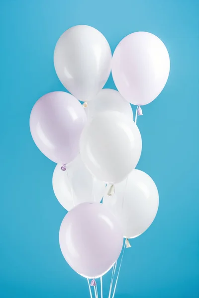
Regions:
<instances>
[{"instance_id":1,"label":"whole bunch of white and pale lavender balloons","mask_svg":"<svg viewBox=\"0 0 199 298\"><path fill-rule=\"evenodd\" d=\"M130 103L137 105L137 119L141 106L164 88L170 59L163 42L148 32L123 38L112 57L97 29L79 25L59 38L54 66L71 94L42 96L31 111L30 131L57 163L53 189L68 211L59 232L62 254L96 286L117 261L123 237L142 234L158 210L154 181L135 169L142 139ZM110 71L118 91L102 89Z\"/></svg>"}]
</instances>

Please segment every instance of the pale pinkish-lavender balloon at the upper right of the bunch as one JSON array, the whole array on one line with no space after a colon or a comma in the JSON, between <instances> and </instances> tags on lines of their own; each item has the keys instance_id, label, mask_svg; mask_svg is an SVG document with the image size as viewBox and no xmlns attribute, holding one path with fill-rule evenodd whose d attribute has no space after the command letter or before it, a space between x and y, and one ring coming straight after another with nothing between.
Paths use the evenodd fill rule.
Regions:
<instances>
[{"instance_id":1,"label":"pale pinkish-lavender balloon at the upper right of the bunch","mask_svg":"<svg viewBox=\"0 0 199 298\"><path fill-rule=\"evenodd\" d=\"M164 43L148 32L124 37L112 58L112 76L121 95L130 103L145 105L164 88L170 59Z\"/></svg>"}]
</instances>

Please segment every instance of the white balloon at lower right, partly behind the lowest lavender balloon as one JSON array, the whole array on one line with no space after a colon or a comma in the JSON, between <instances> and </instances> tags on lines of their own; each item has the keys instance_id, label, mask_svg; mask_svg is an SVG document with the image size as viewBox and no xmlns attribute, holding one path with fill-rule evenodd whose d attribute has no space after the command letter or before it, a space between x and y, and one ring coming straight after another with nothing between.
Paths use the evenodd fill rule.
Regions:
<instances>
[{"instance_id":1,"label":"white balloon at lower right, partly behind the lowest lavender balloon","mask_svg":"<svg viewBox=\"0 0 199 298\"><path fill-rule=\"evenodd\" d=\"M150 176L136 169L114 187L115 194L111 197L105 195L103 204L119 220L124 237L137 237L156 217L159 205L157 187Z\"/></svg>"}]
</instances>

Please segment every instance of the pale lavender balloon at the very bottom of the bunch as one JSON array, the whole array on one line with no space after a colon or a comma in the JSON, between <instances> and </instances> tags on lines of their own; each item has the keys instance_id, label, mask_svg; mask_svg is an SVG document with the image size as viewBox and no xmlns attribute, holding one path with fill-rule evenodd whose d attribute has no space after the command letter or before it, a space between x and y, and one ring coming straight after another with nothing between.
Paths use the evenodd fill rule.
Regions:
<instances>
[{"instance_id":1,"label":"pale lavender balloon at the very bottom of the bunch","mask_svg":"<svg viewBox=\"0 0 199 298\"><path fill-rule=\"evenodd\" d=\"M123 234L120 224L100 203L82 203L67 213L59 243L68 264L80 275L98 278L118 259Z\"/></svg>"}]
</instances>

